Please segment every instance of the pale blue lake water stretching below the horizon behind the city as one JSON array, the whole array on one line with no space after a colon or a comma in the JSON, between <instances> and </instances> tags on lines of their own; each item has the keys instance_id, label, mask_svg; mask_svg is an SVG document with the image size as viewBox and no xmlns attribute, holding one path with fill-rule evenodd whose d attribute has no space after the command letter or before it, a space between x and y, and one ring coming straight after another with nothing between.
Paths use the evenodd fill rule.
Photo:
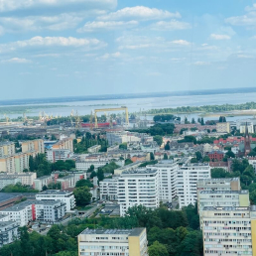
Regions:
<instances>
[{"instance_id":1,"label":"pale blue lake water stretching below the horizon behind the city","mask_svg":"<svg viewBox=\"0 0 256 256\"><path fill-rule=\"evenodd\" d=\"M40 112L45 111L49 115L70 115L71 110L77 111L79 115L90 114L91 111L97 108L113 108L127 106L129 112L139 112L140 110L148 110L153 108L175 108L179 106L202 106L202 105L220 105L220 104L239 104L250 101L255 101L256 92L252 93L230 93L230 94L212 94L212 95L181 95L168 97L149 97L149 98L128 98L128 99L111 99L111 100L85 100L62 103L36 104L42 105L37 109L33 109L27 116L38 116ZM44 105L57 105L57 107L44 108ZM64 107L60 107L64 105ZM100 113L99 113L100 114ZM103 113L102 113L103 114ZM21 114L9 114L9 117L17 118ZM179 115L182 118L185 115ZM197 114L187 114L188 119L192 117L196 120ZM227 120L237 120L239 118L251 118L252 116L228 117ZM3 116L0 116L3 118ZM152 117L147 117L152 119ZM205 117L208 119L217 119L217 117Z\"/></svg>"}]
</instances>

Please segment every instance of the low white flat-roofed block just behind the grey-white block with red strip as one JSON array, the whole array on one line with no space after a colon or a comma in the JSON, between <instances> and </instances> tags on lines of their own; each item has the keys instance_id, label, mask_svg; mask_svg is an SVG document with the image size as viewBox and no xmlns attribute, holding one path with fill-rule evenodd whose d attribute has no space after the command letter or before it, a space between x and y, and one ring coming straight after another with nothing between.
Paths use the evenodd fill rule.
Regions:
<instances>
[{"instance_id":1,"label":"low white flat-roofed block just behind the grey-white block with red strip","mask_svg":"<svg viewBox=\"0 0 256 256\"><path fill-rule=\"evenodd\" d=\"M62 191L45 191L36 195L37 200L60 200L65 203L66 211L70 211L75 207L75 198L72 192Z\"/></svg>"}]
</instances>

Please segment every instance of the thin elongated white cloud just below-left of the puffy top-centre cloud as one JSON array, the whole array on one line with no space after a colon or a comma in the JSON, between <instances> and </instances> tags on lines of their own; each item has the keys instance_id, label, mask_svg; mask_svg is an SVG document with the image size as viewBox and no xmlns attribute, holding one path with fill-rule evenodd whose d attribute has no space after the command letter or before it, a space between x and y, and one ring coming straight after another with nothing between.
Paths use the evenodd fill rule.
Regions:
<instances>
[{"instance_id":1,"label":"thin elongated white cloud just below-left of the puffy top-centre cloud","mask_svg":"<svg viewBox=\"0 0 256 256\"><path fill-rule=\"evenodd\" d=\"M77 32L92 32L96 30L120 30L126 28L133 28L139 23L137 21L93 21L87 22L85 25L78 29Z\"/></svg>"}]
</instances>

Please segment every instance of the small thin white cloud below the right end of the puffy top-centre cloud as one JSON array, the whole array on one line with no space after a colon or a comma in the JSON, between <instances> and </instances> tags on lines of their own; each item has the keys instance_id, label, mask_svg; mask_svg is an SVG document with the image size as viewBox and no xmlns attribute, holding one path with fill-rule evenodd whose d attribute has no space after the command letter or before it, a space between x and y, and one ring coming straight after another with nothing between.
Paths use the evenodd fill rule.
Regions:
<instances>
[{"instance_id":1,"label":"small thin white cloud below the right end of the puffy top-centre cloud","mask_svg":"<svg viewBox=\"0 0 256 256\"><path fill-rule=\"evenodd\" d=\"M187 22L180 22L177 20L172 21L160 21L151 25L152 30L158 31L172 31L172 30L187 30L191 25Z\"/></svg>"}]
</instances>

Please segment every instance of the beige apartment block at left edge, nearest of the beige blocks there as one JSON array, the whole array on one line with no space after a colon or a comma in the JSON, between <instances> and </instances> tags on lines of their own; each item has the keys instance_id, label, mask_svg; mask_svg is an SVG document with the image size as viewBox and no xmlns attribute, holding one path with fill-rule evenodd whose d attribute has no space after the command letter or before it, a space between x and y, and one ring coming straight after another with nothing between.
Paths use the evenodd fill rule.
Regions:
<instances>
[{"instance_id":1,"label":"beige apartment block at left edge, nearest of the beige blocks there","mask_svg":"<svg viewBox=\"0 0 256 256\"><path fill-rule=\"evenodd\" d=\"M18 153L0 158L0 173L22 173L29 169L29 157L35 157L36 152Z\"/></svg>"}]
</instances>

